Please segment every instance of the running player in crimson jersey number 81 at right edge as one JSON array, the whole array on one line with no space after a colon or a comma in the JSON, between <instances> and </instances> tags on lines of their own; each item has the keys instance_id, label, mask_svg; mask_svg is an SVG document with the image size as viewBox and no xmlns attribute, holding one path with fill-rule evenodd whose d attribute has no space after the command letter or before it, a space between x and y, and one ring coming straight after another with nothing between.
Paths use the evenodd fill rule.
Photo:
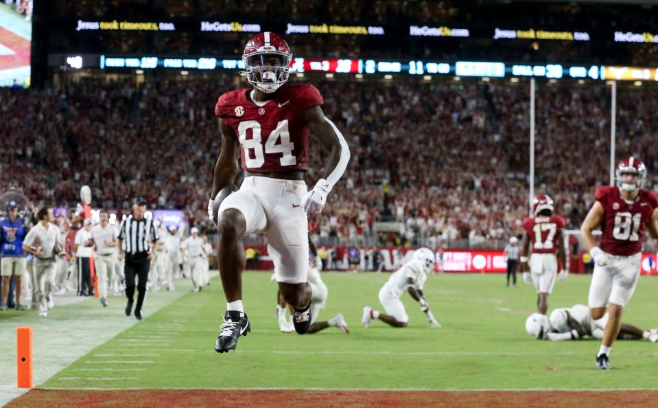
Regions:
<instances>
[{"instance_id":1,"label":"running player in crimson jersey number 81 at right edge","mask_svg":"<svg viewBox=\"0 0 658 408\"><path fill-rule=\"evenodd\" d=\"M592 319L609 314L596 367L609 370L613 341L622 325L622 312L633 296L642 261L642 238L646 227L658 238L658 198L644 190L646 168L637 157L624 159L617 167L617 185L596 188L594 205L580 227L583 245L594 259L589 285ZM600 247L591 231L600 227Z\"/></svg>"}]
</instances>

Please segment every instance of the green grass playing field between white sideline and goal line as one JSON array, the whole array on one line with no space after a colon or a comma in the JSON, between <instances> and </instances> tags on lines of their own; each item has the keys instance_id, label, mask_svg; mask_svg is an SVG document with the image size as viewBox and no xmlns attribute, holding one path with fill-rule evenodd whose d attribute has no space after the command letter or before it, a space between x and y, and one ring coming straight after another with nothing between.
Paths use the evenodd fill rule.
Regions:
<instances>
[{"instance_id":1,"label":"green grass playing field between white sideline and goal line","mask_svg":"<svg viewBox=\"0 0 658 408\"><path fill-rule=\"evenodd\" d=\"M49 379L51 388L317 388L317 389L655 389L658 345L620 341L613 370L594 367L599 342L537 341L524 322L535 304L522 282L506 288L502 275L428 277L427 299L443 328L431 329L418 304L403 298L410 325L361 325L363 306L380 308L388 274L323 273L329 287L319 319L342 313L350 334L328 328L299 336L278 330L276 286L270 273L244 274L252 332L237 351L217 354L215 337L225 308L220 280L187 293L121 332ZM587 303L589 276L558 282L550 308ZM658 280L642 277L624 320L658 326ZM154 294L153 296L158 296ZM148 303L147 303L148 305ZM147 309L148 313L148 309ZM98 321L97 323L102 323Z\"/></svg>"}]
</instances>

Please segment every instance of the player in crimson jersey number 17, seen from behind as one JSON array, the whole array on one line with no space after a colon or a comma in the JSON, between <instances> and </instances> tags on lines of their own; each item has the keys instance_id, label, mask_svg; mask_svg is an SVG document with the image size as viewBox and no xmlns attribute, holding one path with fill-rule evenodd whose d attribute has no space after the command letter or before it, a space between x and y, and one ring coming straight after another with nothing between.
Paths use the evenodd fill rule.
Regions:
<instances>
[{"instance_id":1,"label":"player in crimson jersey number 17, seen from behind","mask_svg":"<svg viewBox=\"0 0 658 408\"><path fill-rule=\"evenodd\" d=\"M548 295L553 291L555 278L559 276L563 280L567 277L567 256L562 235L567 222L561 216L553 215L553 200L547 194L535 197L532 209L534 217L524 220L525 231L519 260L524 282L532 282L534 285L534 290L537 291L537 309L545 315L548 310ZM530 244L532 255L528 258ZM559 274L558 260L562 268Z\"/></svg>"}]
</instances>

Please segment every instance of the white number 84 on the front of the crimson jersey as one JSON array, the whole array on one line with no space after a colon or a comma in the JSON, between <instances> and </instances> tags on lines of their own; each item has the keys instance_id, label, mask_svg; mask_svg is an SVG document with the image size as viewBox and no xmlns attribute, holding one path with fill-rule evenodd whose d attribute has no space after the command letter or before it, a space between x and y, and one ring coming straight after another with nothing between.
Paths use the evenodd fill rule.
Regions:
<instances>
[{"instance_id":1,"label":"white number 84 on the front of the crimson jersey","mask_svg":"<svg viewBox=\"0 0 658 408\"><path fill-rule=\"evenodd\" d=\"M247 139L247 131L251 130L251 139ZM240 122L237 126L237 133L240 139L240 144L244 148L244 163L248 168L260 168L265 163L265 155L263 154L263 143L261 139L261 124L255 120L246 120ZM277 143L281 140L281 143ZM281 166L294 166L297 164L297 159L292 155L292 150L295 146L290 141L290 133L288 132L288 121L282 120L274 128L267 141L265 142L264 153L267 155L275 153L283 153L283 157L279 159ZM253 157L251 155L253 151Z\"/></svg>"}]
</instances>

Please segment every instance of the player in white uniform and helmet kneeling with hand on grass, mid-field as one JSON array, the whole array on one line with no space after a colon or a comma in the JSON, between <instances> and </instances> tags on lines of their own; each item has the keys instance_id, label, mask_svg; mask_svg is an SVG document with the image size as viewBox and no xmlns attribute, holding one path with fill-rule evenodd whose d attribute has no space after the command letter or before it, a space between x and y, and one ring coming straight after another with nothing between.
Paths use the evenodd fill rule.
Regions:
<instances>
[{"instance_id":1,"label":"player in white uniform and helmet kneeling with hand on grass, mid-field","mask_svg":"<svg viewBox=\"0 0 658 408\"><path fill-rule=\"evenodd\" d=\"M386 315L366 306L363 308L362 324L368 327L373 319L379 319L393 327L407 327L409 316L400 298L409 291L411 297L421 304L421 310L430 319L430 326L440 327L423 293L427 273L434 271L434 259L434 252L430 249L416 249L413 259L393 273L379 291L379 302L384 306Z\"/></svg>"}]
</instances>

